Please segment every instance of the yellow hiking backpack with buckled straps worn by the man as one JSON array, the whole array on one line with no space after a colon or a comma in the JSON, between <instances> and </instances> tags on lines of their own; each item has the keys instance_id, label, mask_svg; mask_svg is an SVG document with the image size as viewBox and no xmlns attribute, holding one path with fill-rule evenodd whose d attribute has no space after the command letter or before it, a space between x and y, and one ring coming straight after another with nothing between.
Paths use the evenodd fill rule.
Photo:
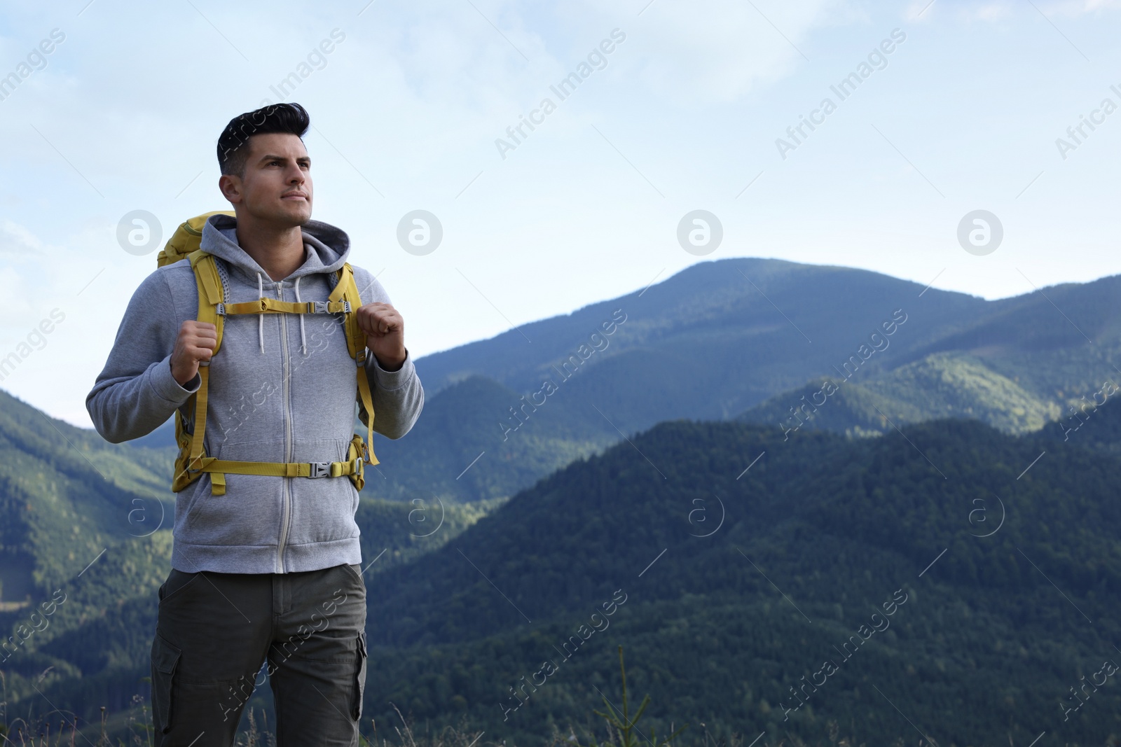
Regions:
<instances>
[{"instance_id":1,"label":"yellow hiking backpack with buckled straps worn by the man","mask_svg":"<svg viewBox=\"0 0 1121 747\"><path fill-rule=\"evenodd\" d=\"M370 395L370 382L365 376L365 356L369 353L365 347L365 335L358 326L356 312L362 306L362 299L359 296L358 286L354 283L354 272L351 265L343 264L342 269L339 270L339 282L326 301L297 304L262 298L244 304L225 304L214 256L200 249L203 226L212 215L233 216L234 214L228 211L215 211L184 221L168 240L167 245L160 250L156 264L164 267L182 259L191 260L191 267L195 271L195 281L198 283L197 320L209 321L217 328L214 355L217 355L219 348L222 346L222 323L226 316L233 314L345 314L343 327L346 330L346 347L358 366L356 396L367 413L367 438L363 442L361 436L354 435L346 454L346 461L232 461L206 456L203 451L203 437L206 435L210 362L203 361L198 364L198 375L202 383L187 400L187 409L194 410L192 418L194 427L191 432L187 432L180 411L175 411L175 441L179 446L179 456L175 460L172 491L178 493L202 477L203 473L210 473L212 495L225 494L226 474L272 475L276 477L341 477L346 475L354 483L354 487L361 491L365 483L362 476L363 457L364 464L376 465L379 463L373 455L373 399Z\"/></svg>"}]
</instances>

